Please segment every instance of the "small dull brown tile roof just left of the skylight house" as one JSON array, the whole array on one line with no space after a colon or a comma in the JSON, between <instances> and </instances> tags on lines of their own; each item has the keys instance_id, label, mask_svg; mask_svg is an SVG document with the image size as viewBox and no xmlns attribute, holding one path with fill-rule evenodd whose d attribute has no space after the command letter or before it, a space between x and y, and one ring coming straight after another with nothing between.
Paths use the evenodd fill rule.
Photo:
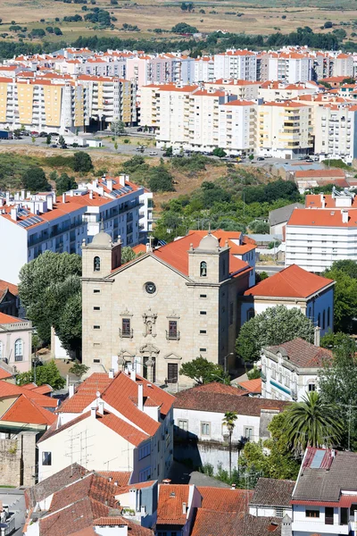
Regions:
<instances>
[{"instance_id":1,"label":"small dull brown tile roof just left of the skylight house","mask_svg":"<svg viewBox=\"0 0 357 536\"><path fill-rule=\"evenodd\" d=\"M295 481L260 478L250 504L260 507L290 507Z\"/></svg>"}]
</instances>

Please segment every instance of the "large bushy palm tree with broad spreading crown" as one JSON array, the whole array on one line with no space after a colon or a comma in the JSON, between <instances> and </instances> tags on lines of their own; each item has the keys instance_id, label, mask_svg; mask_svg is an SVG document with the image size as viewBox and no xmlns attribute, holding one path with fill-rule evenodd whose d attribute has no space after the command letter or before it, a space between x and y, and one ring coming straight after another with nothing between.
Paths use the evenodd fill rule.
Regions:
<instances>
[{"instance_id":1,"label":"large bushy palm tree with broad spreading crown","mask_svg":"<svg viewBox=\"0 0 357 536\"><path fill-rule=\"evenodd\" d=\"M323 402L318 391L289 406L285 415L287 440L300 454L306 447L332 447L341 439L343 424L338 409Z\"/></svg>"}]
</instances>

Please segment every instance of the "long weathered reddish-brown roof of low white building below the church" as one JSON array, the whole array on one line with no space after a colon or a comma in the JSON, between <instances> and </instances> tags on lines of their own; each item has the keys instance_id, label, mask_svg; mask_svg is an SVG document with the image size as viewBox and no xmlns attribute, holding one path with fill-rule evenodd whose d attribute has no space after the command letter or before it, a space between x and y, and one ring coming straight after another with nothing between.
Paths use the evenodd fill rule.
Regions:
<instances>
[{"instance_id":1,"label":"long weathered reddish-brown roof of low white building below the church","mask_svg":"<svg viewBox=\"0 0 357 536\"><path fill-rule=\"evenodd\" d=\"M223 414L236 411L238 415L260 416L262 409L283 411L287 404L283 400L214 393L193 387L177 393L174 407Z\"/></svg>"}]
</instances>

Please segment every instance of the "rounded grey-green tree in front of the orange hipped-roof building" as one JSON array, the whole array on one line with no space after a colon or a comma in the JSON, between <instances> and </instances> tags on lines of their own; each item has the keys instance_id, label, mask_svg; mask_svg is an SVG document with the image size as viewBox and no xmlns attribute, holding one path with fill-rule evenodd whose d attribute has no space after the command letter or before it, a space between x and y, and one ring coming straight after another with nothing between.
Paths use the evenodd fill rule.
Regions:
<instances>
[{"instance_id":1,"label":"rounded grey-green tree in front of the orange hipped-roof building","mask_svg":"<svg viewBox=\"0 0 357 536\"><path fill-rule=\"evenodd\" d=\"M243 324L236 341L237 354L245 362L257 361L262 347L278 345L298 337L313 341L314 327L311 320L297 307L269 307Z\"/></svg>"}]
</instances>

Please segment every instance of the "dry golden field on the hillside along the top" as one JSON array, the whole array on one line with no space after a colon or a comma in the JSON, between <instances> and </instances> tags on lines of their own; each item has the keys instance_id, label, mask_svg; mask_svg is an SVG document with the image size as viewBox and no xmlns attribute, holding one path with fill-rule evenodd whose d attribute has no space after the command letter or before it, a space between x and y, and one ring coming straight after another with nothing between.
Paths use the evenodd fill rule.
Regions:
<instances>
[{"instance_id":1,"label":"dry golden field on the hillside along the top","mask_svg":"<svg viewBox=\"0 0 357 536\"><path fill-rule=\"evenodd\" d=\"M325 21L333 21L334 29L343 28L346 38L356 29L353 21L357 20L357 9L354 2L347 0L267 0L253 3L252 0L237 3L231 1L194 1L195 10L191 13L180 9L180 2L166 2L158 0L137 0L112 5L108 0L96 0L96 7L109 11L117 18L114 29L95 29L95 25L87 21L63 22L65 15L84 15L81 4L63 4L61 0L21 0L10 2L1 1L2 24L0 33L8 33L7 40L18 40L19 32L9 30L15 21L16 24L26 26L28 33L31 29L46 29L48 26L58 26L62 29L62 36L47 34L46 41L73 42L79 36L120 37L120 38L155 38L157 40L173 38L171 33L157 35L153 29L170 30L177 22L187 22L199 31L212 32L217 29L236 33L264 34L281 31L288 33L297 27L309 26L313 31L321 30ZM93 7L87 4L87 9ZM204 13L199 13L201 10ZM237 16L241 13L240 16ZM284 18L282 18L284 17ZM59 21L55 21L55 19ZM41 21L41 19L43 21ZM139 32L125 31L122 24L137 25ZM341 26L343 23L343 26ZM347 25L345 25L347 23ZM21 33L21 32L20 32ZM178 37L178 36L176 36ZM354 36L353 36L354 37ZM25 42L27 38L24 39ZM36 40L34 40L36 42Z\"/></svg>"}]
</instances>

